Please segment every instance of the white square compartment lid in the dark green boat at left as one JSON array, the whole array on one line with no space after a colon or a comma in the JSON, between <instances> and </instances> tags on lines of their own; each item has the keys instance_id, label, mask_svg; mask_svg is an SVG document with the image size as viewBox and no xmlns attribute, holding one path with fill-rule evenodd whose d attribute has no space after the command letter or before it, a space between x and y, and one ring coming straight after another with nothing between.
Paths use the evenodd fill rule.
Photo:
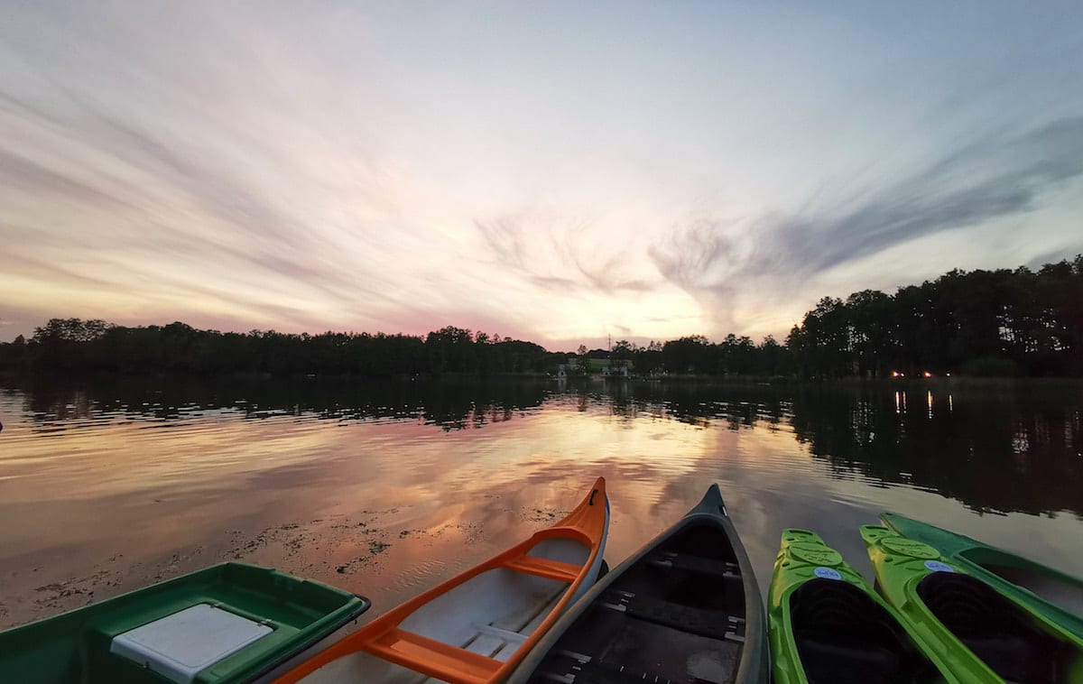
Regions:
<instances>
[{"instance_id":1,"label":"white square compartment lid in the dark green boat at left","mask_svg":"<svg viewBox=\"0 0 1083 684\"><path fill-rule=\"evenodd\" d=\"M274 630L208 603L187 607L113 639L109 652L178 684Z\"/></svg>"}]
</instances>

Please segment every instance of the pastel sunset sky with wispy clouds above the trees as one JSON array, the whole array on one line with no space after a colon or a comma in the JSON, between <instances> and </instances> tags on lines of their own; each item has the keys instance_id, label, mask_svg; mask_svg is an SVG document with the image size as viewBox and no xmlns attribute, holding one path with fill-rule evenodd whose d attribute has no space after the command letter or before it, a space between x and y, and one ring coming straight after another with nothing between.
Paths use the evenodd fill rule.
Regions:
<instances>
[{"instance_id":1,"label":"pastel sunset sky with wispy clouds above the trees","mask_svg":"<svg viewBox=\"0 0 1083 684\"><path fill-rule=\"evenodd\" d=\"M0 11L0 341L52 317L782 339L1083 252L1083 4Z\"/></svg>"}]
</instances>

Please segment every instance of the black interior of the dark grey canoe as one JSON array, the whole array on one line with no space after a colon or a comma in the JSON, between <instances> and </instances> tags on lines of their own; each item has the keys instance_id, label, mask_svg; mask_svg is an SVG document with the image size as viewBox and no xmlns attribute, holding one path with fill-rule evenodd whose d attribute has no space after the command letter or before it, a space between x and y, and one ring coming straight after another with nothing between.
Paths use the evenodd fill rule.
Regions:
<instances>
[{"instance_id":1,"label":"black interior of the dark grey canoe","mask_svg":"<svg viewBox=\"0 0 1083 684\"><path fill-rule=\"evenodd\" d=\"M736 556L725 529L705 518L664 539L596 595L531 681L728 684L744 630Z\"/></svg>"}]
</instances>

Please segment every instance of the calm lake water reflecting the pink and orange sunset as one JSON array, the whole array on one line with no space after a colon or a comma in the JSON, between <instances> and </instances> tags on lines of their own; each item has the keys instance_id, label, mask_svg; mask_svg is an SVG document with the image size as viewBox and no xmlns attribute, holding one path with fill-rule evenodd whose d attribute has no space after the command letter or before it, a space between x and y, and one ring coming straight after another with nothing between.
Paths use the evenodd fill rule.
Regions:
<instances>
[{"instance_id":1,"label":"calm lake water reflecting the pink and orange sunset","mask_svg":"<svg viewBox=\"0 0 1083 684\"><path fill-rule=\"evenodd\" d=\"M0 387L0 628L225 560L375 616L604 475L615 565L717 482L766 590L784 527L866 576L918 517L1083 575L1083 385L126 380Z\"/></svg>"}]
</instances>

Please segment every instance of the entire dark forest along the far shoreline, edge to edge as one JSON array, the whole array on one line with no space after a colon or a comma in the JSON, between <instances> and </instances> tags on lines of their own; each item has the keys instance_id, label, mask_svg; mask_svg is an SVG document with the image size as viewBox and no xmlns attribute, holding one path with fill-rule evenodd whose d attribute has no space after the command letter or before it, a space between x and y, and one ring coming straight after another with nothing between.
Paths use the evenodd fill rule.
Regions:
<instances>
[{"instance_id":1,"label":"entire dark forest along the far shoreline, edge to edge","mask_svg":"<svg viewBox=\"0 0 1083 684\"><path fill-rule=\"evenodd\" d=\"M697 334L575 354L453 326L423 337L292 334L53 318L29 340L0 343L0 371L31 373L542 374L565 365L574 374L588 359L634 376L1081 377L1083 254L1038 271L955 269L895 294L825 297L783 342Z\"/></svg>"}]
</instances>

